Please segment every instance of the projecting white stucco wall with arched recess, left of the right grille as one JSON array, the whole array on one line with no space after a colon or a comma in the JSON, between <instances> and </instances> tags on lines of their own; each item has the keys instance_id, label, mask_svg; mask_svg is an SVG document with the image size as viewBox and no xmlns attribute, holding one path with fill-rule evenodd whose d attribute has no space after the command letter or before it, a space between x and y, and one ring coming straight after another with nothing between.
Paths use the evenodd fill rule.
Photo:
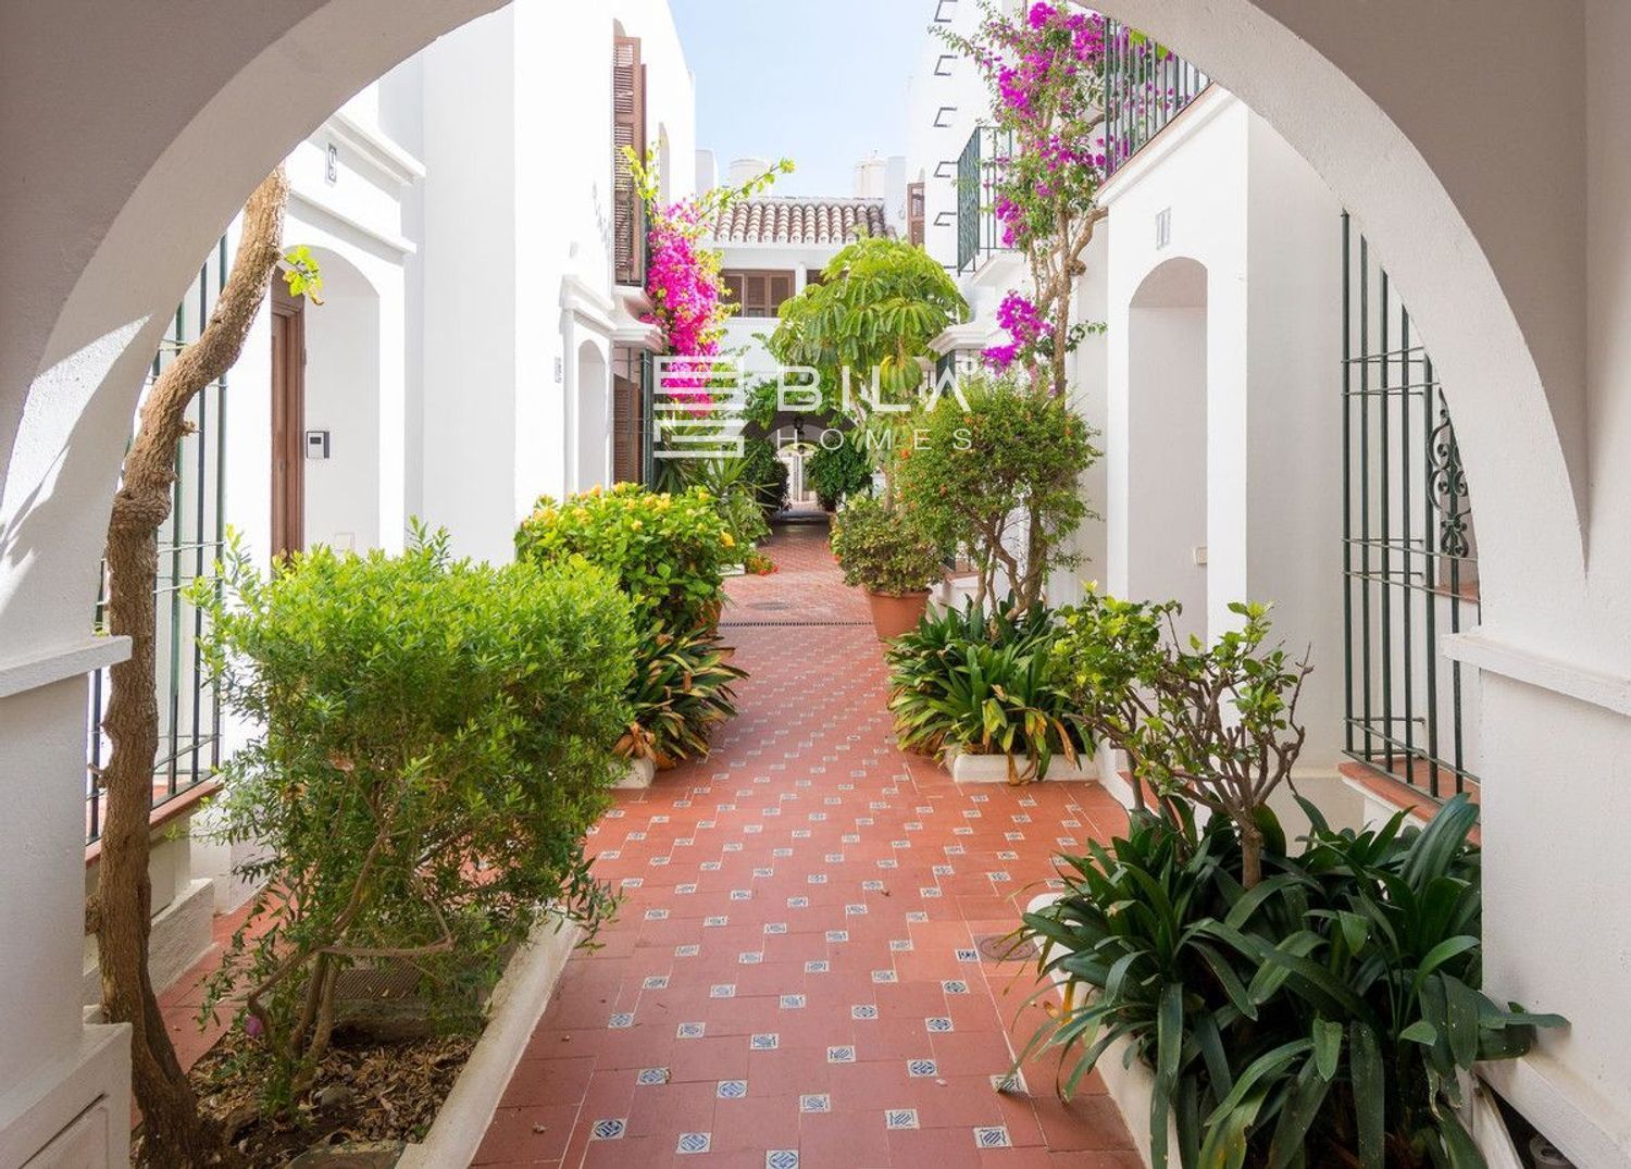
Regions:
<instances>
[{"instance_id":1,"label":"projecting white stucco wall with arched recess, left of the right grille","mask_svg":"<svg viewBox=\"0 0 1631 1169\"><path fill-rule=\"evenodd\" d=\"M1344 644L1341 209L1262 119L1217 88L1111 181L1106 205L1107 587L1176 597L1186 615L1200 603L1192 628L1213 636L1238 621L1231 602L1272 602L1277 636L1313 647L1302 763L1333 768ZM1204 411L1194 362L1173 367L1199 324L1194 310L1161 303L1171 298L1158 269L1173 259L1207 276ZM1197 414L1204 457L1184 465L1200 440ZM1204 501L1199 532L1186 496Z\"/></svg>"}]
</instances>

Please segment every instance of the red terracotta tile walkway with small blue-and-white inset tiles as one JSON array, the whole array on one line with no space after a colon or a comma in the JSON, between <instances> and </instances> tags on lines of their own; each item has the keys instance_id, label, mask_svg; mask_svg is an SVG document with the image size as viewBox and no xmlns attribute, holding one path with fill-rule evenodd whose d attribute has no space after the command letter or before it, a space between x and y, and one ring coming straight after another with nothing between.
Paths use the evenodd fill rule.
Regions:
<instances>
[{"instance_id":1,"label":"red terracotta tile walkway with small blue-and-white inset tiles","mask_svg":"<svg viewBox=\"0 0 1631 1169\"><path fill-rule=\"evenodd\" d=\"M626 900L568 964L476 1162L1137 1166L1107 1097L1059 1102L1052 1057L993 1089L1041 1014L1014 1019L1029 967L980 949L1120 809L902 755L825 530L767 551L781 571L732 580L724 615L740 716L597 827Z\"/></svg>"}]
</instances>

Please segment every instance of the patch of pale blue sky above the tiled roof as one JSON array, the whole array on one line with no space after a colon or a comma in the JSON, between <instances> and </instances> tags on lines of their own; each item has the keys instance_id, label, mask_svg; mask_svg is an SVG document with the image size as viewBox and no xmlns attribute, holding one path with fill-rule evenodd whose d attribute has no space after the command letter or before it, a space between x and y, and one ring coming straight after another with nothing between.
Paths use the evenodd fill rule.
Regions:
<instances>
[{"instance_id":1,"label":"patch of pale blue sky above the tiled roof","mask_svg":"<svg viewBox=\"0 0 1631 1169\"><path fill-rule=\"evenodd\" d=\"M670 0L696 77L696 143L791 158L775 194L848 196L856 160L907 150L907 78L933 0Z\"/></svg>"}]
</instances>

